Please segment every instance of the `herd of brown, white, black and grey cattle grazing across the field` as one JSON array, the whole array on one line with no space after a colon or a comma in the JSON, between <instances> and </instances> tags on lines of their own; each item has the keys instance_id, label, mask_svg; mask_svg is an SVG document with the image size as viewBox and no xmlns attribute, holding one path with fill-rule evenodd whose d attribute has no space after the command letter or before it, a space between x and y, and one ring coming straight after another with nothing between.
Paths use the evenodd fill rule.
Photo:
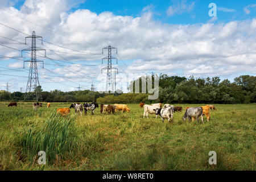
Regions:
<instances>
[{"instance_id":1,"label":"herd of brown, white, black and grey cattle grazing across the field","mask_svg":"<svg viewBox=\"0 0 256 182\"><path fill-rule=\"evenodd\" d=\"M38 109L39 107L42 107L42 103L39 102L34 102L33 108L34 110ZM17 106L17 102L11 102L9 106ZM50 107L51 103L47 103L47 107ZM144 103L140 103L139 106L141 108L144 108L144 114L143 118L146 117L148 118L148 114L155 114L155 118L160 116L162 121L164 122L164 119L168 119L168 121L173 121L173 116L176 111L181 111L182 107L180 106L174 106L170 104L165 104L162 106L162 103L158 104L151 104L147 105ZM70 113L70 109L74 108L76 114L81 114L82 115L82 110L84 110L84 114L87 114L88 110L92 111L92 115L94 115L94 110L98 107L98 103L92 102L92 103L84 103L83 105L80 103L73 103L69 108L59 108L57 109L57 113L63 116L67 116ZM206 106L200 106L200 107L186 107L185 114L183 115L184 121L186 119L189 119L189 122L194 121L194 119L197 119L199 121L199 118L201 118L201 121L204 123L203 115L206 115L207 121L210 120L210 110L216 110L216 108L213 105L206 105ZM101 104L100 105L100 112L101 114L114 114L115 110L119 111L127 111L128 113L130 112L130 109L127 105L125 104L114 104L114 105L106 105L106 104Z\"/></svg>"}]
</instances>

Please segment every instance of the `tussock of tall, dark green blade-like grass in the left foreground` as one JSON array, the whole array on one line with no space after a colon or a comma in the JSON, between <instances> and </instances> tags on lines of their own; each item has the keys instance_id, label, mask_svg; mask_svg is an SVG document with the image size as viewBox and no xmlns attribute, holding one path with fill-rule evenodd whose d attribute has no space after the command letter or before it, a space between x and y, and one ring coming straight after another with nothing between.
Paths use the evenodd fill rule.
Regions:
<instances>
[{"instance_id":1,"label":"tussock of tall, dark green blade-like grass in the left foreground","mask_svg":"<svg viewBox=\"0 0 256 182\"><path fill-rule=\"evenodd\" d=\"M24 158L34 162L38 152L45 151L47 162L52 163L56 156L62 158L65 152L73 152L77 144L73 120L52 114L42 128L24 131L18 143Z\"/></svg>"}]
</instances>

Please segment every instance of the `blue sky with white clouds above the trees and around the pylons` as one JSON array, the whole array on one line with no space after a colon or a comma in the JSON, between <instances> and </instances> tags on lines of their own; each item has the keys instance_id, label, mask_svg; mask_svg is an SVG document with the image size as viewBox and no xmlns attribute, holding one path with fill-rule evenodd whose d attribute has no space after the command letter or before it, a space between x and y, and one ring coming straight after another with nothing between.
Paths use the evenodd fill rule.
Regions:
<instances>
[{"instance_id":1,"label":"blue sky with white clouds above the trees and around the pylons","mask_svg":"<svg viewBox=\"0 0 256 182\"><path fill-rule=\"evenodd\" d=\"M217 16L209 16L210 3ZM117 88L151 72L233 81L256 75L255 1L0 0L0 90L26 89L32 31L43 90L104 90L113 46ZM42 64L44 63L44 65Z\"/></svg>"}]
</instances>

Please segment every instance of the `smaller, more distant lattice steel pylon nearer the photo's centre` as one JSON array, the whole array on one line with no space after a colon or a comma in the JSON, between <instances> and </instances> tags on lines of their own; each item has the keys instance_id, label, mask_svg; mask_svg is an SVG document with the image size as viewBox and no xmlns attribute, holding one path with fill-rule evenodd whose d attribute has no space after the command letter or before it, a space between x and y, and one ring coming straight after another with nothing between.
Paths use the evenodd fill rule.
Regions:
<instances>
[{"instance_id":1,"label":"smaller, more distant lattice steel pylon nearer the photo's centre","mask_svg":"<svg viewBox=\"0 0 256 182\"><path fill-rule=\"evenodd\" d=\"M108 57L102 58L102 64L103 64L103 60L106 59L106 60L108 60L108 66L101 69L101 73L102 73L102 70L104 70L104 69L106 69L106 71L107 71L105 91L106 92L111 91L112 93L114 93L116 91L115 75L118 74L118 68L114 68L112 66L112 60L113 59L117 60L117 58L112 56L112 49L115 49L116 53L117 53L117 48L109 45L108 47L102 48L102 54L104 53L104 49L108 49Z\"/></svg>"}]
</instances>

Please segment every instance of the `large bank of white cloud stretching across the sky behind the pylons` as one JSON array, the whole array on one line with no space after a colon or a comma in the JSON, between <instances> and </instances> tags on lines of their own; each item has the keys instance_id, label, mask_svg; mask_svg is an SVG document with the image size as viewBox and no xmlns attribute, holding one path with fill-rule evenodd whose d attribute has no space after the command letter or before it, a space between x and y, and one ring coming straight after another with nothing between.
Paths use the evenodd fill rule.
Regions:
<instances>
[{"instance_id":1,"label":"large bank of white cloud stretching across the sky behind the pylons","mask_svg":"<svg viewBox=\"0 0 256 182\"><path fill-rule=\"evenodd\" d=\"M42 4L39 6L38 3ZM182 3L184 4L184 1L181 2L181 5ZM189 7L187 4L184 5ZM182 73L178 75L182 76L229 77L230 75L240 75L241 72L255 74L255 18L214 24L163 24L155 22L150 11L144 11L141 16L133 17L117 16L110 12L96 14L90 10L69 12L68 6L68 3L63 1L27 0L20 11L14 7L6 7L8 11L31 22L40 23L41 26L51 29L55 33L35 26L35 24L24 22L1 9L0 22L27 34L31 34L35 30L37 35L43 36L48 42L79 51L101 53L102 47L111 44L118 48L118 55L124 62L126 60L133 61L132 64L126 63L128 65L126 68L118 55L113 55L119 59L118 65L115 66L120 73L133 72L134 75L139 76L151 71L177 73L177 70L181 70ZM46 9L46 7L48 8ZM180 9L184 10L185 8L180 6ZM25 36L3 26L0 28L0 34L20 42L24 41ZM76 53L73 55L57 52L68 61L84 60L84 64L87 64L86 61L90 61L89 64L93 64L92 61L99 64L101 58L104 57L104 55L83 55L80 52L47 43L38 46L60 52ZM11 45L11 47L26 48L26 46L18 44ZM0 55L19 56L20 52L1 47ZM51 51L47 51L47 55L63 60ZM29 59L30 55L26 56ZM40 59L43 58L40 57ZM56 64L49 60L45 60L45 63ZM106 63L95 67L86 67L80 64L65 64L65 68L49 68L49 65L44 65L56 75L83 78L55 77L42 81L70 80L89 82L90 84L92 80L100 81L106 78L104 74L101 75L101 68L105 65ZM13 65L14 67L20 67L20 63L16 63ZM41 68L39 68L39 73L53 75ZM73 85L75 84L71 86Z\"/></svg>"}]
</instances>

